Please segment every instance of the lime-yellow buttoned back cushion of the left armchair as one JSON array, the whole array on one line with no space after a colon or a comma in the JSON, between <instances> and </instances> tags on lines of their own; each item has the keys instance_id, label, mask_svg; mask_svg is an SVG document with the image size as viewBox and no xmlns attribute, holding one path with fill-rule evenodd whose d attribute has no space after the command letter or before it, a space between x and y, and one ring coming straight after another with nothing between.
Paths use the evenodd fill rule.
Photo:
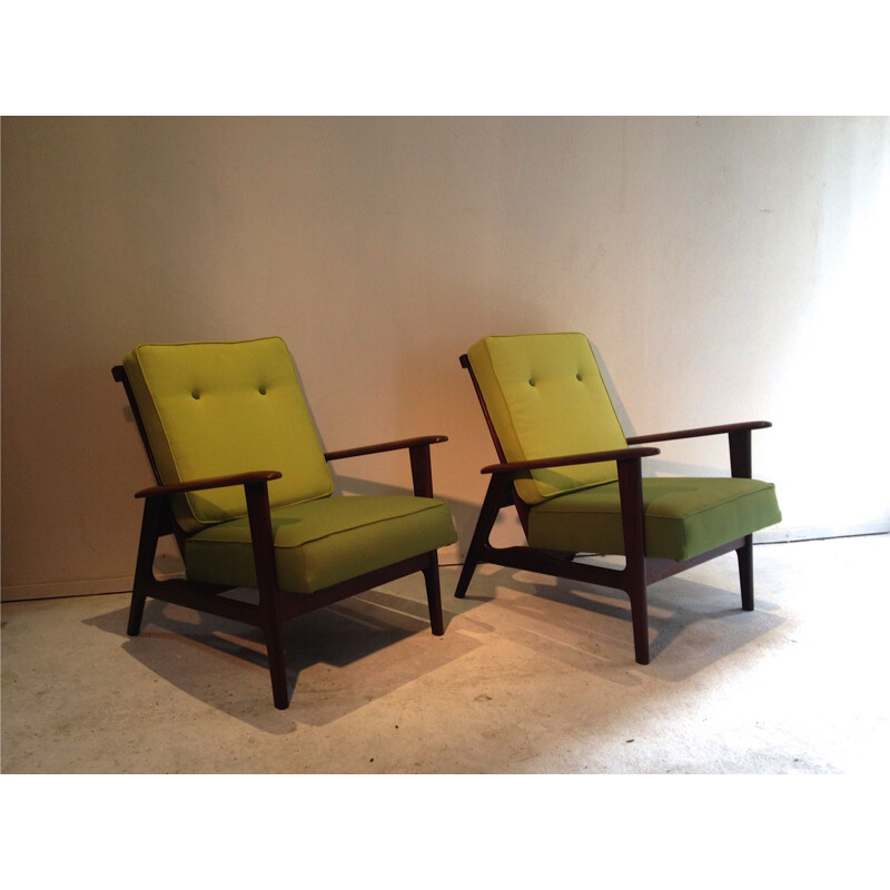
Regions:
<instances>
[{"instance_id":1,"label":"lime-yellow buttoned back cushion of the left armchair","mask_svg":"<svg viewBox=\"0 0 890 890\"><path fill-rule=\"evenodd\" d=\"M334 483L287 346L148 344L123 359L161 483L277 469L273 507L326 497ZM186 533L246 515L244 490L184 495L174 514Z\"/></svg>"}]
</instances>

